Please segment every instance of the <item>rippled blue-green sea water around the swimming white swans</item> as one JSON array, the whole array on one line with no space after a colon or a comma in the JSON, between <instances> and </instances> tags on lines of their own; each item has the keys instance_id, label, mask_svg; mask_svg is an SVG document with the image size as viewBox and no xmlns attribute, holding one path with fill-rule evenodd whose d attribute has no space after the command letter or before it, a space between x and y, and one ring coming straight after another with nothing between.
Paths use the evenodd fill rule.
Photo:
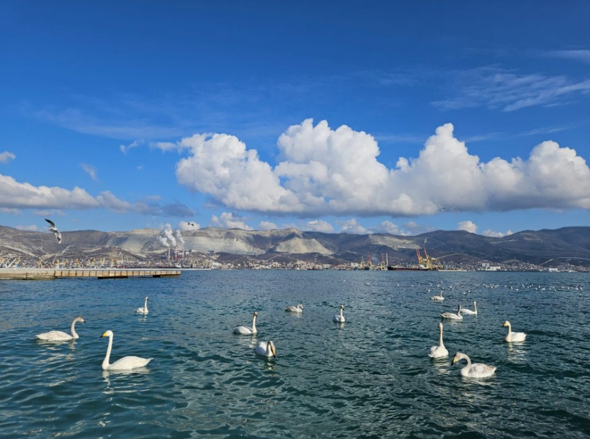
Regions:
<instances>
[{"instance_id":1,"label":"rippled blue-green sea water around the swimming white swans","mask_svg":"<svg viewBox=\"0 0 590 439\"><path fill-rule=\"evenodd\" d=\"M441 285L445 301L436 303ZM430 290L430 291L428 291ZM150 313L136 315L149 296ZM439 313L450 358L432 361ZM303 315L286 313L303 303ZM339 305L346 323L332 322ZM0 282L6 438L589 438L588 274L183 272ZM235 336L258 310L258 335ZM80 338L49 343L35 334ZM507 329L522 343L503 341ZM153 357L134 373L111 361ZM254 354L273 340L276 360ZM455 351L496 365L460 376Z\"/></svg>"}]
</instances>

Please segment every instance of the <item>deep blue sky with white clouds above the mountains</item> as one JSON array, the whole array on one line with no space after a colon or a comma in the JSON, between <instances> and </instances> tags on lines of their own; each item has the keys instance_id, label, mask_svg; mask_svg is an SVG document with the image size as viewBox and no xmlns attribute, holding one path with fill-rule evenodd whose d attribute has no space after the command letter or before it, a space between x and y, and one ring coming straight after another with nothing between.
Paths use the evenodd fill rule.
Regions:
<instances>
[{"instance_id":1,"label":"deep blue sky with white clouds above the mountains","mask_svg":"<svg viewBox=\"0 0 590 439\"><path fill-rule=\"evenodd\" d=\"M590 2L0 2L0 225L505 236L590 215Z\"/></svg>"}]
</instances>

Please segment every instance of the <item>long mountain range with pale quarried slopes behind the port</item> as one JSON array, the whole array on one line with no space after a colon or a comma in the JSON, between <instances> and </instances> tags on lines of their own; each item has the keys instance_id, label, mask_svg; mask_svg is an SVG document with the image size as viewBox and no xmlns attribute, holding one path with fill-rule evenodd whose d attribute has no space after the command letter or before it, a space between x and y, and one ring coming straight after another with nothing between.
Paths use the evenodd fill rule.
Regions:
<instances>
[{"instance_id":1,"label":"long mountain range with pale quarried slopes behind the port","mask_svg":"<svg viewBox=\"0 0 590 439\"><path fill-rule=\"evenodd\" d=\"M426 241L425 245L424 242ZM522 231L503 238L490 238L466 231L432 231L416 236L387 233L302 232L298 229L244 231L205 228L176 231L165 237L155 229L127 232L62 232L62 243L53 233L20 231L0 226L0 256L4 263L19 258L28 265L56 258L85 261L147 260L158 263L168 255L183 254L187 260L211 258L236 260L314 260L321 263L389 265L415 264L416 250L438 258L445 265L532 264L590 266L590 227ZM22 265L24 264L21 263Z\"/></svg>"}]
</instances>

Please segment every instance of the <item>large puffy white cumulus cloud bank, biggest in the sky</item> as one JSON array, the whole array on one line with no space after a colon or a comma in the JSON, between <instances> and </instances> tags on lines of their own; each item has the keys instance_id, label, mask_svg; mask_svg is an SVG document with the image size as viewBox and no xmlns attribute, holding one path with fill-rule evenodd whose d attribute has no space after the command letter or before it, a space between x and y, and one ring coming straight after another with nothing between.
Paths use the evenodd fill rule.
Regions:
<instances>
[{"instance_id":1,"label":"large puffy white cumulus cloud bank, biggest in the sky","mask_svg":"<svg viewBox=\"0 0 590 439\"><path fill-rule=\"evenodd\" d=\"M280 135L274 167L227 134L196 134L162 149L185 154L176 177L189 190L226 208L268 215L411 217L438 213L441 206L471 212L590 208L590 169L574 149L546 141L528 158L484 163L453 130L453 124L439 126L417 158L401 157L392 169L379 162L372 135L344 125L332 130L312 119Z\"/></svg>"}]
</instances>

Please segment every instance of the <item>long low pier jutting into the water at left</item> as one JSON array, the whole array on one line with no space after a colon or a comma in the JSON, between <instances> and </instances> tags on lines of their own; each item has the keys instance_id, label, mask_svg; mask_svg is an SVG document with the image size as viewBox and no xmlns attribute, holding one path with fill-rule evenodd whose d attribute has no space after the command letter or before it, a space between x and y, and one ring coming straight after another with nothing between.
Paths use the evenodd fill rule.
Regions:
<instances>
[{"instance_id":1,"label":"long low pier jutting into the water at left","mask_svg":"<svg viewBox=\"0 0 590 439\"><path fill-rule=\"evenodd\" d=\"M38 280L62 278L126 279L129 277L173 277L181 270L168 268L0 268L0 280Z\"/></svg>"}]
</instances>

